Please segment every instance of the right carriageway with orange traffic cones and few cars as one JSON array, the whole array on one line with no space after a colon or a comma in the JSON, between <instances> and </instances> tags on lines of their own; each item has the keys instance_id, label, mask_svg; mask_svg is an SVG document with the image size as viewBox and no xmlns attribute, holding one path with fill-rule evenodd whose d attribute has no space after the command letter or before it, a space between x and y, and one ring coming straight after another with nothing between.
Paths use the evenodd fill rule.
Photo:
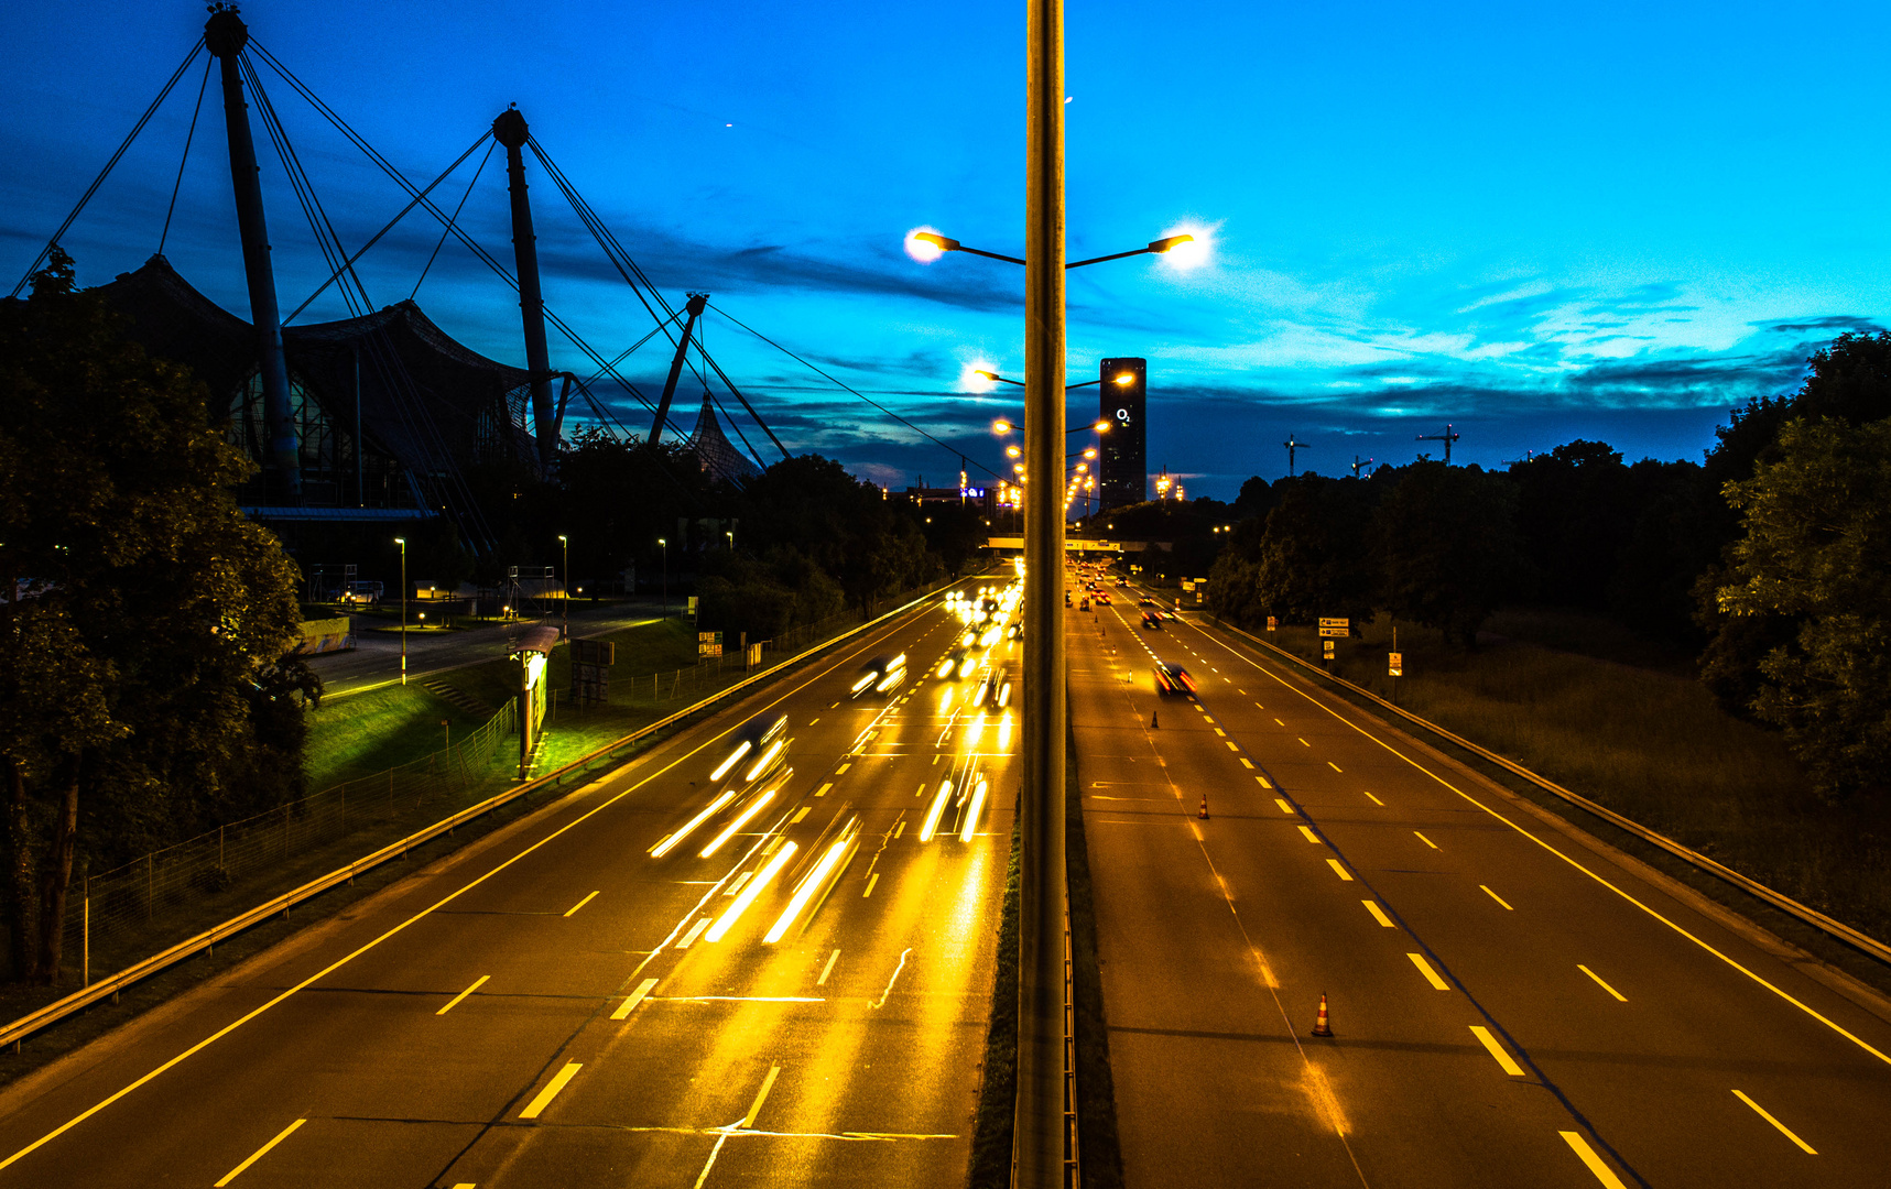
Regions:
<instances>
[{"instance_id":1,"label":"right carriageway with orange traffic cones and few cars","mask_svg":"<svg viewBox=\"0 0 1891 1189\"><path fill-rule=\"evenodd\" d=\"M1882 998L1116 594L1067 631L1129 1185L1887 1181Z\"/></svg>"}]
</instances>

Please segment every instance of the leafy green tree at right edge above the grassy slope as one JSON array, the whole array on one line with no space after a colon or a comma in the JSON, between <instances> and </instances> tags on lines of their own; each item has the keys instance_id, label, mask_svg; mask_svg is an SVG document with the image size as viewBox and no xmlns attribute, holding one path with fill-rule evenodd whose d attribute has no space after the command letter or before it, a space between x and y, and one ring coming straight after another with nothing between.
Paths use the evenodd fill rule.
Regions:
<instances>
[{"instance_id":1,"label":"leafy green tree at right edge above the grassy slope","mask_svg":"<svg viewBox=\"0 0 1891 1189\"><path fill-rule=\"evenodd\" d=\"M1891 418L1787 422L1776 459L1726 486L1742 512L1715 590L1734 622L1787 620L1751 709L1819 792L1882 794L1891 764Z\"/></svg>"}]
</instances>

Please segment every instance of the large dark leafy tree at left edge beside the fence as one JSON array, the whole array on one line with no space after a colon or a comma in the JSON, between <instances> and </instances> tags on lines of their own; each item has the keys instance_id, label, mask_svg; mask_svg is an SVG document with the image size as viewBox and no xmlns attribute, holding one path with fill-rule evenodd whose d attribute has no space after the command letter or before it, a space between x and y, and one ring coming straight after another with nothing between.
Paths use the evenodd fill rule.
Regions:
<instances>
[{"instance_id":1,"label":"large dark leafy tree at left edge beside the fence","mask_svg":"<svg viewBox=\"0 0 1891 1189\"><path fill-rule=\"evenodd\" d=\"M0 771L13 977L59 977L76 858L301 790L295 565L242 518L250 473L176 365L127 342L53 251L0 304ZM280 707L278 707L280 709ZM81 798L83 794L83 798Z\"/></svg>"}]
</instances>

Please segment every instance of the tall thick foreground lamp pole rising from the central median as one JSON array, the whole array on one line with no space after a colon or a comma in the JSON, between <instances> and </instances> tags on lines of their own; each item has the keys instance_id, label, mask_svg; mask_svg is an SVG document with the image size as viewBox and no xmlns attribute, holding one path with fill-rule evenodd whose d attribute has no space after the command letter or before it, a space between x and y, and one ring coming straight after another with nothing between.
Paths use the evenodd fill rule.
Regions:
<instances>
[{"instance_id":1,"label":"tall thick foreground lamp pole rising from the central median","mask_svg":"<svg viewBox=\"0 0 1891 1189\"><path fill-rule=\"evenodd\" d=\"M1025 34L1025 784L1019 794L1017 1113L1012 1183L1065 1183L1065 78L1063 0Z\"/></svg>"}]
</instances>

